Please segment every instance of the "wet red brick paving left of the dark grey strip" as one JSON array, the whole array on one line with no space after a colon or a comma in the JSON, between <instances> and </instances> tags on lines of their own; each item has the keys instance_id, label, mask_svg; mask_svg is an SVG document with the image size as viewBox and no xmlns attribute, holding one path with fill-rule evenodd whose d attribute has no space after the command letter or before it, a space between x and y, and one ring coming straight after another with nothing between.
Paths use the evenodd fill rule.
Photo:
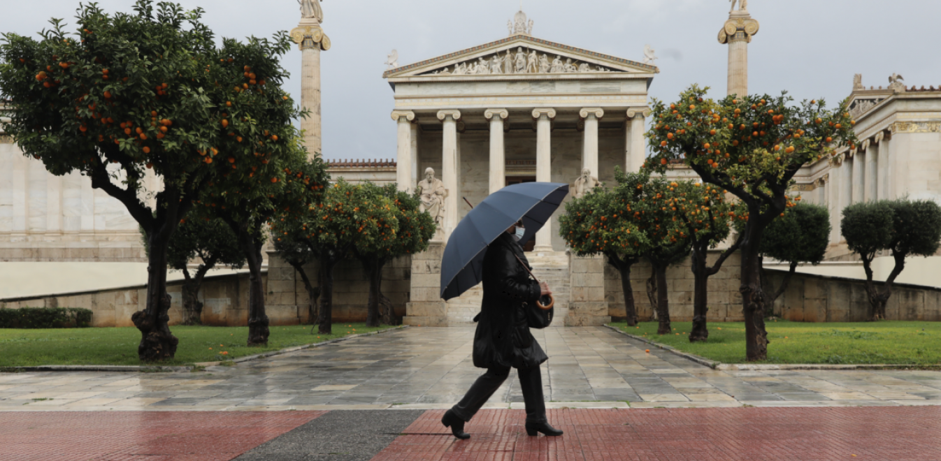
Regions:
<instances>
[{"instance_id":1,"label":"wet red brick paving left of the dark grey strip","mask_svg":"<svg viewBox=\"0 0 941 461\"><path fill-rule=\"evenodd\" d=\"M0 461L229 461L325 413L0 412Z\"/></svg>"}]
</instances>

